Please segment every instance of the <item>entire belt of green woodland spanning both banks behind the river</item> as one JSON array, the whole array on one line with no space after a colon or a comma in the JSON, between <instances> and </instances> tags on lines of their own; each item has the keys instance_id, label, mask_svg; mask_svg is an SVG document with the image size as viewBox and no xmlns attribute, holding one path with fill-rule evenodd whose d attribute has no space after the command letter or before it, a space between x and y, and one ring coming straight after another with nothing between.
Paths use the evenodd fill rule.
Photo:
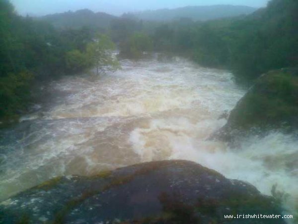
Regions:
<instances>
[{"instance_id":1,"label":"entire belt of green woodland spanning both banks behind the river","mask_svg":"<svg viewBox=\"0 0 298 224\"><path fill-rule=\"evenodd\" d=\"M2 120L17 119L26 111L36 83L83 72L100 61L101 66L117 67L104 53L115 46L121 57L140 59L148 52L163 52L229 69L247 86L269 70L298 66L297 0L271 0L249 15L205 22L189 18L150 22L124 14L108 17L103 27L75 28L57 28L53 18L22 17L7 0L0 0L0 8ZM105 57L108 60L101 60Z\"/></svg>"}]
</instances>

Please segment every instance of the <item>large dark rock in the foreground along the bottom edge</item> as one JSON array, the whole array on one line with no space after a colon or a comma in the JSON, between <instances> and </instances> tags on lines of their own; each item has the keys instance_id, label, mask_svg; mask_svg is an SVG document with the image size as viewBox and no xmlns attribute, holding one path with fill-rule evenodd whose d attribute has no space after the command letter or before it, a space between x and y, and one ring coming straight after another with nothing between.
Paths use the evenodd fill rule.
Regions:
<instances>
[{"instance_id":1,"label":"large dark rock in the foreground along the bottom edge","mask_svg":"<svg viewBox=\"0 0 298 224\"><path fill-rule=\"evenodd\" d=\"M283 224L272 197L189 161L137 164L93 177L58 177L0 204L0 222L137 224Z\"/></svg>"}]
</instances>

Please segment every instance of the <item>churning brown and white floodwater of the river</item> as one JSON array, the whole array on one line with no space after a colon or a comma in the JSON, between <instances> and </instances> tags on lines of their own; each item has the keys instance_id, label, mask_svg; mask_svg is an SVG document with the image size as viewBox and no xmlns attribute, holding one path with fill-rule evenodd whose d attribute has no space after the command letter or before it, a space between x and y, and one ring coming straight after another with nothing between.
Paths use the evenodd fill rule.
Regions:
<instances>
[{"instance_id":1,"label":"churning brown and white floodwater of the river","mask_svg":"<svg viewBox=\"0 0 298 224\"><path fill-rule=\"evenodd\" d=\"M170 62L121 62L100 77L68 76L50 100L0 131L0 200L61 175L94 175L140 162L186 159L264 194L274 184L298 204L298 139L273 132L236 148L208 140L245 91L227 71Z\"/></svg>"}]
</instances>

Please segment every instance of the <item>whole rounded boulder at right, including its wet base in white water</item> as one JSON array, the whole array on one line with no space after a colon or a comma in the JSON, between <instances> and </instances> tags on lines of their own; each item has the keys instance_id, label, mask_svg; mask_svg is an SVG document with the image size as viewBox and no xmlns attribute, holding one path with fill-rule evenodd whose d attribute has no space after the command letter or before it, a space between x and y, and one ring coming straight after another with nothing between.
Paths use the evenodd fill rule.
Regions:
<instances>
[{"instance_id":1,"label":"whole rounded boulder at right, including its wet base in white water","mask_svg":"<svg viewBox=\"0 0 298 224\"><path fill-rule=\"evenodd\" d=\"M298 69L262 75L231 111L227 124L215 134L224 141L250 132L298 129Z\"/></svg>"}]
</instances>

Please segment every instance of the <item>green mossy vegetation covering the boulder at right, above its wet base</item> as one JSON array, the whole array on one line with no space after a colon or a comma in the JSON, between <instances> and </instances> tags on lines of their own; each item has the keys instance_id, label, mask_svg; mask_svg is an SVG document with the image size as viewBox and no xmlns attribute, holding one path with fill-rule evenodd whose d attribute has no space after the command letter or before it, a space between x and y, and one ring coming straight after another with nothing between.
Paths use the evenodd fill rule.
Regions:
<instances>
[{"instance_id":1,"label":"green mossy vegetation covering the boulder at right, above its wet base","mask_svg":"<svg viewBox=\"0 0 298 224\"><path fill-rule=\"evenodd\" d=\"M229 123L238 129L251 127L288 128L298 114L298 77L287 71L272 71L255 86L231 112ZM297 124L296 124L297 125Z\"/></svg>"}]
</instances>

